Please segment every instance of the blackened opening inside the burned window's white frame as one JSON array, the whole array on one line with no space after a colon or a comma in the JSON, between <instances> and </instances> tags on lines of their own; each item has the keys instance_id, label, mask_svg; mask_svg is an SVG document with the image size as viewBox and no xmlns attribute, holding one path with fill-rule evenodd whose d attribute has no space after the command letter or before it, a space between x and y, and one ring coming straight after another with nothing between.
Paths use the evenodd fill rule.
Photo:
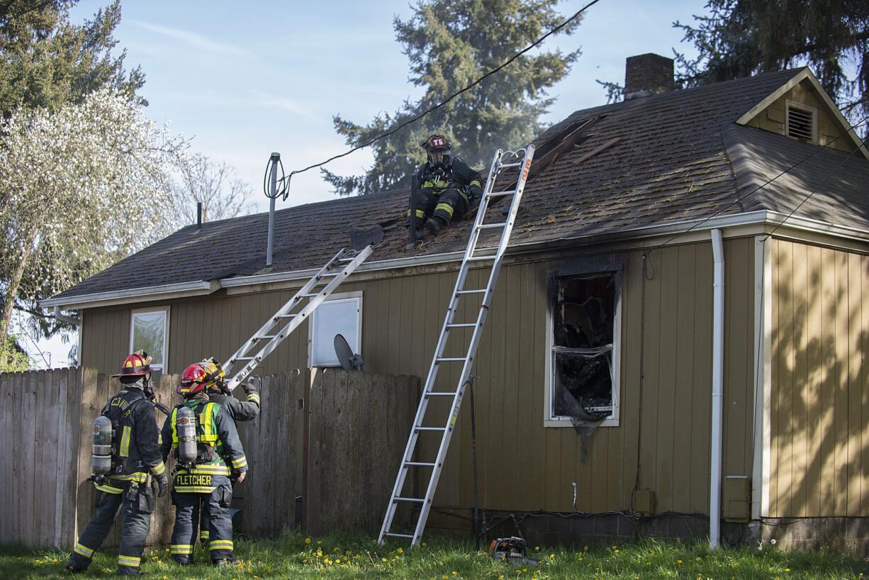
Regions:
<instances>
[{"instance_id":1,"label":"blackened opening inside the burned window's white frame","mask_svg":"<svg viewBox=\"0 0 869 580\"><path fill-rule=\"evenodd\" d=\"M598 422L614 414L616 272L556 278L553 416Z\"/></svg>"}]
</instances>

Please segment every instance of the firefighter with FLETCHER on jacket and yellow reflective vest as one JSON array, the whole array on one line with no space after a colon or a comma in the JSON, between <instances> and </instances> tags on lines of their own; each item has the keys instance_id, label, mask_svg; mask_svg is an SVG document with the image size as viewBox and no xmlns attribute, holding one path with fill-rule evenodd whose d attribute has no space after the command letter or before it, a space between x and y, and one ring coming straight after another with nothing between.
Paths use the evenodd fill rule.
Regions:
<instances>
[{"instance_id":1,"label":"firefighter with FLETCHER on jacket and yellow reflective vest","mask_svg":"<svg viewBox=\"0 0 869 580\"><path fill-rule=\"evenodd\" d=\"M202 500L202 510L209 517L211 561L225 566L234 559L230 477L242 483L248 461L229 412L221 403L209 401L208 382L209 373L202 363L187 367L176 389L184 402L163 423L163 461L169 450L175 450L177 460L172 479L175 527L169 551L177 563L190 563L196 542L193 512Z\"/></svg>"}]
</instances>

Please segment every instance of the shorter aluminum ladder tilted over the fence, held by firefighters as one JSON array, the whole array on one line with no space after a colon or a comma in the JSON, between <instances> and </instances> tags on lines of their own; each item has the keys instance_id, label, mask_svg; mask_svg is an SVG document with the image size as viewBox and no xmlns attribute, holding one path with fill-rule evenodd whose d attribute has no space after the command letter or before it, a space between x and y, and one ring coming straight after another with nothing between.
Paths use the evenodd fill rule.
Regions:
<instances>
[{"instance_id":1,"label":"shorter aluminum ladder tilted over the fence, held by firefighters","mask_svg":"<svg viewBox=\"0 0 869 580\"><path fill-rule=\"evenodd\" d=\"M242 348L236 350L235 354L229 357L229 361L223 366L223 371L229 377L229 373L236 363L245 363L242 370L236 372L235 376L227 381L226 385L229 390L234 390L245 378L249 377L250 373L262 363L265 357L268 357L279 344L289 337L293 330L298 328L299 324L308 318L317 306L371 255L372 251L374 251L374 246L370 244L359 251L347 250L346 248L340 250L295 293L294 297L289 299L289 302L275 312L262 325L262 328L248 339L248 342L242 344ZM325 286L316 290L316 286L326 281L328 283ZM309 298L308 303L302 307L302 310L294 312L293 310L302 305L306 298ZM285 322L286 325L278 330Z\"/></svg>"}]
</instances>

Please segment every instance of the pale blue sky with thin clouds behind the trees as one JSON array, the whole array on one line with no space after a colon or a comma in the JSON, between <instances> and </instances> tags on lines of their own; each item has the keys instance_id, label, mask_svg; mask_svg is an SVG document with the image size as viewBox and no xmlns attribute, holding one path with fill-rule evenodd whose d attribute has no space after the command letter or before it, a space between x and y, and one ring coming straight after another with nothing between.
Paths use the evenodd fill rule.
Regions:
<instances>
[{"instance_id":1,"label":"pale blue sky with thin clouds behind the trees","mask_svg":"<svg viewBox=\"0 0 869 580\"><path fill-rule=\"evenodd\" d=\"M74 22L93 17L109 0L81 0ZM559 3L565 17L587 0ZM555 102L543 123L606 103L595 79L624 82L625 58L655 52L673 56L680 44L673 21L692 22L705 0L600 0L569 37L549 37L542 50L582 54L566 78L549 90ZM127 50L127 68L141 66L146 114L190 137L191 150L234 167L251 184L257 210L268 210L262 177L269 154L285 170L319 163L348 150L335 134L336 114L368 123L421 90L408 82L408 61L395 41L393 18L407 20L408 0L359 2L122 1L115 38ZM461 143L454 143L461 156ZM330 163L339 175L362 174L371 163L361 150ZM278 209L332 199L317 170L293 178ZM75 337L72 337L75 342ZM70 343L59 337L29 343L38 366L63 366ZM39 354L42 350L45 357ZM49 358L50 357L50 358ZM119 361L120 363L120 361Z\"/></svg>"}]
</instances>

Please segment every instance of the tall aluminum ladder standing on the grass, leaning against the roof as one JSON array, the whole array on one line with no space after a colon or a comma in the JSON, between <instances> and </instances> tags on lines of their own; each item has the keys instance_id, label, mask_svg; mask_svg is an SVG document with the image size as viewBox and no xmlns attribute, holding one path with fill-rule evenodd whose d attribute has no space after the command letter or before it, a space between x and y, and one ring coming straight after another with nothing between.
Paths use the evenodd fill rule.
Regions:
<instances>
[{"instance_id":1,"label":"tall aluminum ladder standing on the grass, leaning against the roof","mask_svg":"<svg viewBox=\"0 0 869 580\"><path fill-rule=\"evenodd\" d=\"M507 159L518 159L520 157L520 154L522 154L521 161L516 161L514 163L502 162L505 157ZM428 377L426 378L425 387L422 390L420 405L416 410L414 427L410 431L410 437L408 437L408 445L404 450L404 457L402 457L401 459L401 467L398 471L398 477L396 477L395 479L395 486L392 489L392 496L389 498L386 516L383 518L383 525L381 526L380 536L377 538L377 543L380 543L381 545L386 537L409 538L411 539L411 545L418 545L420 543L420 539L422 537L422 530L425 530L426 520L428 519L428 512L429 510L431 510L432 502L434 501L434 491L437 489L437 482L438 479L441 477L443 462L447 456L449 440L450 437L452 437L453 435L453 429L459 417L459 410L461 408L461 397L463 397L465 394L465 385L468 381L468 377L471 374L471 368L474 365L474 355L476 354L477 345L480 343L481 332L483 324L486 322L486 315L488 313L489 306L492 303L492 292L494 290L494 285L498 280L498 272L501 270L501 261L504 256L504 250L507 249L507 243L510 239L510 233L513 231L513 223L516 219L516 212L519 210L522 190L525 189L525 182L528 178L528 171L531 168L531 160L533 157L534 145L528 145L526 149L518 150L515 152L504 152L502 150L497 150L494 154L494 158L492 159L492 166L489 170L488 179L486 180L486 187L482 193L480 209L477 211L477 217L474 220L474 228L471 230L471 235L468 240L468 249L465 250L465 257L461 262L459 276L455 281L453 297L450 299L449 308L447 309L447 316L444 318L443 327L441 328L441 337L438 339L437 348L434 350L434 357L432 357L432 363L428 369ZM516 181L515 189L507 191L494 191L494 183L495 179L498 177L498 174L501 173L501 170L505 170L510 167L520 168L520 175ZM488 210L488 204L492 199L496 197L513 198L512 203L510 204L510 210L507 213L507 219L504 222L499 223L483 223L483 220L486 218L486 210ZM480 239L481 231L493 229L501 229L501 243L498 244L498 248L495 251L494 256L477 255L477 242ZM493 260L494 262L491 266L492 270L489 274L486 288L466 289L465 280L468 277L468 268L470 264L478 262L488 262ZM459 309L460 298L474 294L482 295L482 303L480 306L480 311L477 314L476 321L473 323L455 323L454 316L456 311L458 311ZM471 336L470 344L468 345L468 350L466 351L464 357L444 357L444 351L447 347L449 331L450 329L454 328L474 329ZM459 383L456 385L455 390L434 390L434 382L438 374L438 369L440 369L441 367L441 363L462 363L461 377L459 377ZM449 414L444 423L442 423L442 427L428 427L423 426L422 424L426 416L426 410L428 410L428 401L433 397L452 397L452 404L449 406L448 411ZM416 443L418 443L419 435L421 432L428 431L441 433L441 445L438 448L437 457L434 458L434 461L428 459L424 461L415 460L414 454L416 451ZM430 477L428 477L428 485L426 487L426 493L424 497L405 497L401 495L401 490L404 487L404 482L405 478L408 475L408 470L412 467L420 468L421 470L431 470L431 475ZM397 509L399 503L411 503L420 507L420 513L416 522L413 535L399 534L389 531L392 526L393 518L395 517L395 510Z\"/></svg>"}]
</instances>

